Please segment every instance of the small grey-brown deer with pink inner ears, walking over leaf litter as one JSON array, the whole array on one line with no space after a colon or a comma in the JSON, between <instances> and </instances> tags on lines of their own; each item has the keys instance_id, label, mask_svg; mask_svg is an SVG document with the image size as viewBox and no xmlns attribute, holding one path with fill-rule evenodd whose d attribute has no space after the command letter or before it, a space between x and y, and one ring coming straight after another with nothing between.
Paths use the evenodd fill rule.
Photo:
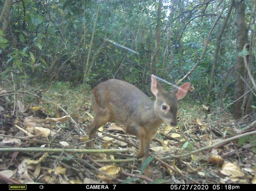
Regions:
<instances>
[{"instance_id":1,"label":"small grey-brown deer with pink inner ears, walking over leaf litter","mask_svg":"<svg viewBox=\"0 0 256 191\"><path fill-rule=\"evenodd\" d=\"M91 102L95 113L89 125L89 139L93 139L99 127L109 121L126 126L127 133L140 139L138 158L148 157L149 145L158 127L164 121L177 125L178 100L186 96L190 83L168 92L151 75L151 91L155 102L134 85L116 79L98 84L92 90ZM93 141L89 142L94 148Z\"/></svg>"}]
</instances>

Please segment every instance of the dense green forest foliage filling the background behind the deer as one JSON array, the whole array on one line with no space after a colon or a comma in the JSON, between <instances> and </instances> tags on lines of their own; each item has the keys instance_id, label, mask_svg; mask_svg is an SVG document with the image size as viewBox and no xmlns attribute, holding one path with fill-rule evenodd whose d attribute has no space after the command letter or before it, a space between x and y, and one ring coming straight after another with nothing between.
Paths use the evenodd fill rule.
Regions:
<instances>
[{"instance_id":1,"label":"dense green forest foliage filling the background behind the deer","mask_svg":"<svg viewBox=\"0 0 256 191\"><path fill-rule=\"evenodd\" d=\"M3 1L2 1L3 2ZM228 2L226 6L229 6ZM253 5L253 1L246 1ZM2 3L3 4L3 3ZM85 64L89 59L88 87L110 78L128 81L151 95L149 89L152 58L155 55L158 2L102 1L92 53L88 50L93 33L98 1L17 1L10 12L10 28L3 36L0 30L0 54L3 57L1 79L12 71L18 81L69 81L82 84ZM157 75L175 83L193 68L201 56L207 35L220 13L215 1L164 1L162 7L161 40ZM248 6L249 7L249 6ZM217 14L212 14L215 10ZM246 10L246 18L251 10ZM217 26L222 26L227 13L224 10ZM235 13L233 13L235 14ZM234 22L233 15L230 22ZM10 30L8 28L8 30ZM252 30L255 24L251 26ZM189 76L196 85L191 96L205 101L208 95L215 40L215 27L200 65ZM214 96L210 104L222 99L233 99L234 75L227 75L236 59L234 30L230 24L220 42L216 68ZM132 53L111 42L139 52ZM239 55L247 55L244 50ZM20 80L21 79L21 80ZM226 85L226 82L228 84ZM225 91L222 91L225 87Z\"/></svg>"}]
</instances>

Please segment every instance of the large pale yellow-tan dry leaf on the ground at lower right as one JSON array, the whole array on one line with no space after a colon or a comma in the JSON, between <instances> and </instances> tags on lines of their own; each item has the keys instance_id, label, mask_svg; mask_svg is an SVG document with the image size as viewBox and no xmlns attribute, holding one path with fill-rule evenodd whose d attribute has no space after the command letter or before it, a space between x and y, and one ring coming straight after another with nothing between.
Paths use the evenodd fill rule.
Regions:
<instances>
[{"instance_id":1,"label":"large pale yellow-tan dry leaf on the ground at lower right","mask_svg":"<svg viewBox=\"0 0 256 191\"><path fill-rule=\"evenodd\" d=\"M231 162L223 164L220 172L226 176L229 176L229 178L240 178L244 176L244 173L240 167Z\"/></svg>"}]
</instances>

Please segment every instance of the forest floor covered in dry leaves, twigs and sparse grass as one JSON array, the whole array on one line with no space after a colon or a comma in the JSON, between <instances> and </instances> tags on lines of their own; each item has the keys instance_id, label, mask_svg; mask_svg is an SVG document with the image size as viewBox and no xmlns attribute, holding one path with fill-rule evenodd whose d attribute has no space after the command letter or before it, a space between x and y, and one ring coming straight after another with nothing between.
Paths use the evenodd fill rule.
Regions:
<instances>
[{"instance_id":1,"label":"forest floor covered in dry leaves, twigs and sparse grass","mask_svg":"<svg viewBox=\"0 0 256 191\"><path fill-rule=\"evenodd\" d=\"M121 124L97 132L96 149L111 153L77 150L88 149L89 90L65 83L9 87L0 86L0 183L256 183L256 136L241 136L255 131L255 124L248 128L255 115L234 120L188 95L177 127L162 124L151 141L147 177L136 159L138 139Z\"/></svg>"}]
</instances>

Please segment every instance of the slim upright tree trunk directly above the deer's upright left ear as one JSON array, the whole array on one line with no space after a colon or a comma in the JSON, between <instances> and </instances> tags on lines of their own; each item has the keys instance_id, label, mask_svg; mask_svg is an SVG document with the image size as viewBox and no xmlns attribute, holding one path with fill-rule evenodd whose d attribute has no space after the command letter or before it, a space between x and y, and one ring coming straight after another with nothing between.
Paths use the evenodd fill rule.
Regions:
<instances>
[{"instance_id":1,"label":"slim upright tree trunk directly above the deer's upright left ear","mask_svg":"<svg viewBox=\"0 0 256 191\"><path fill-rule=\"evenodd\" d=\"M159 0L157 10L157 28L155 38L155 56L151 65L151 74L156 74L156 65L159 63L159 48L160 48L160 37L161 37L161 17L162 17L162 0Z\"/></svg>"}]
</instances>

